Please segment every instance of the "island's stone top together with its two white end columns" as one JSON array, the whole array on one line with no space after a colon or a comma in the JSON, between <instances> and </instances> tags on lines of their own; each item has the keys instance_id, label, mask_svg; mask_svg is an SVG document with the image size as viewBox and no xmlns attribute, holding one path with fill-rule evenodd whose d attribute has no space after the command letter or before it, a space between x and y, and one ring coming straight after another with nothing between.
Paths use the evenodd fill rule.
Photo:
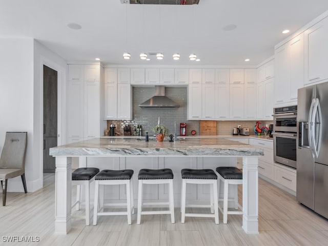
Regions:
<instances>
[{"instance_id":1,"label":"island's stone top together with its two white end columns","mask_svg":"<svg viewBox=\"0 0 328 246\"><path fill-rule=\"evenodd\" d=\"M138 138L93 138L50 149L56 157L55 232L71 229L71 157L242 157L243 218L246 233L258 233L258 156L263 149L224 138L186 138L175 142ZM177 163L177 165L179 165ZM81 166L81 163L80 163ZM82 165L83 166L83 165ZM181 169L184 168L181 166ZM135 170L137 173L138 170ZM179 176L175 179L180 178Z\"/></svg>"}]
</instances>

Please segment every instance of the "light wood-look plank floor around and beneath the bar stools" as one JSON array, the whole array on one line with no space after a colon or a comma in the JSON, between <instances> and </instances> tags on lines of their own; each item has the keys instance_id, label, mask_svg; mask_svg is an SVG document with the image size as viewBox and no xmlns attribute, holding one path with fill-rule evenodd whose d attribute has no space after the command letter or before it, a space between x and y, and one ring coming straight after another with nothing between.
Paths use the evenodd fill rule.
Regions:
<instances>
[{"instance_id":1,"label":"light wood-look plank floor around and beneath the bar stools","mask_svg":"<svg viewBox=\"0 0 328 246\"><path fill-rule=\"evenodd\" d=\"M241 215L228 224L213 218L186 218L179 209L169 215L145 215L129 226L126 216L101 216L97 226L73 219L68 235L54 233L54 175L45 174L44 188L34 193L8 193L0 207L0 245L328 245L328 220L298 204L295 197L259 179L259 234L245 234ZM240 189L239 189L239 192ZM1 194L2 195L2 194ZM194 209L195 210L195 209ZM38 236L39 242L3 241L4 236Z\"/></svg>"}]
</instances>

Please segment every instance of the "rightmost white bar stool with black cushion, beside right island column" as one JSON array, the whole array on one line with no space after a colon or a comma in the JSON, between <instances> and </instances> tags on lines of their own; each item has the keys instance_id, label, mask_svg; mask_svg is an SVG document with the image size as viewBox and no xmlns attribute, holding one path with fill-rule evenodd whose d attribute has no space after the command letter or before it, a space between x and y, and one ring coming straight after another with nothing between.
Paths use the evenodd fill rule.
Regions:
<instances>
[{"instance_id":1,"label":"rightmost white bar stool with black cushion, beside right island column","mask_svg":"<svg viewBox=\"0 0 328 246\"><path fill-rule=\"evenodd\" d=\"M219 174L218 189L220 190L220 180L223 181L223 210L221 206L219 209L223 214L223 223L226 224L228 220L228 214L242 214L242 207L238 203L238 190L237 186L234 194L235 209L238 208L241 211L228 211L228 186L229 185L242 185L242 171L235 167L218 167L216 172Z\"/></svg>"}]
</instances>

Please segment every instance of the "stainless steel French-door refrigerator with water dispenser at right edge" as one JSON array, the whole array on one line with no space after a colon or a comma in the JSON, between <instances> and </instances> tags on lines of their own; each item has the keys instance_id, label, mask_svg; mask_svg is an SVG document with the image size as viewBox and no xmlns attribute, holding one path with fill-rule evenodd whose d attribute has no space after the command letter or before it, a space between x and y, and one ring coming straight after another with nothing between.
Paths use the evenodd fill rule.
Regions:
<instances>
[{"instance_id":1,"label":"stainless steel French-door refrigerator with water dispenser at right edge","mask_svg":"<svg viewBox=\"0 0 328 246\"><path fill-rule=\"evenodd\" d=\"M297 200L328 218L328 83L298 90Z\"/></svg>"}]
</instances>

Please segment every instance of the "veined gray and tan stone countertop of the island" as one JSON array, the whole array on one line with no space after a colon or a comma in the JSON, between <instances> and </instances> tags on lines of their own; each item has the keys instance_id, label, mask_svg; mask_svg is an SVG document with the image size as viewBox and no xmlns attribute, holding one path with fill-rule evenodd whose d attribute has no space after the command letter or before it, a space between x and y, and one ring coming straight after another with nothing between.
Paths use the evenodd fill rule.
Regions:
<instances>
[{"instance_id":1,"label":"veined gray and tan stone countertop of the island","mask_svg":"<svg viewBox=\"0 0 328 246\"><path fill-rule=\"evenodd\" d=\"M52 156L260 156L263 149L220 137L100 137L50 148Z\"/></svg>"}]
</instances>

